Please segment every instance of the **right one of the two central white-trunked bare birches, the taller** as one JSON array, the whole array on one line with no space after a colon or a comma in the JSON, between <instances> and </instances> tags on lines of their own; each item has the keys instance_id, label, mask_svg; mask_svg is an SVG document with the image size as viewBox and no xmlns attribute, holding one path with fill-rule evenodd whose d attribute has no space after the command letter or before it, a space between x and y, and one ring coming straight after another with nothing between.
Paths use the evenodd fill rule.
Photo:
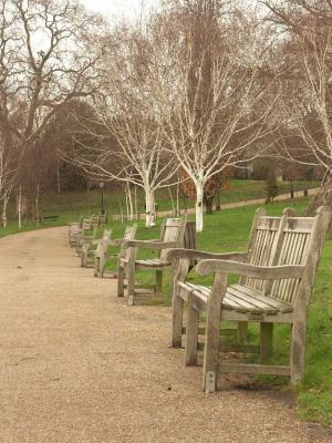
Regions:
<instances>
[{"instance_id":1,"label":"right one of the two central white-trunked bare birches, the taller","mask_svg":"<svg viewBox=\"0 0 332 443\"><path fill-rule=\"evenodd\" d=\"M200 231L207 181L258 155L278 95L267 100L273 79L262 81L262 68L270 35L258 18L229 2L183 3L156 23L164 41L160 37L155 91L165 137L196 187Z\"/></svg>"}]
</instances>

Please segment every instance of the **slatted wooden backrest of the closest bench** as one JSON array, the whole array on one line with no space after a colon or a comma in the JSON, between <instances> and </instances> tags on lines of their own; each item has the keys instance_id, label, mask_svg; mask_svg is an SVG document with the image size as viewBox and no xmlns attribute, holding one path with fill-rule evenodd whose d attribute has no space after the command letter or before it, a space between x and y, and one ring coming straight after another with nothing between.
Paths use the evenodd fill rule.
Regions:
<instances>
[{"instance_id":1,"label":"slatted wooden backrest of the closest bench","mask_svg":"<svg viewBox=\"0 0 332 443\"><path fill-rule=\"evenodd\" d=\"M267 217L263 209L256 214L250 240L248 262L257 266L304 265L310 299L319 259L328 231L331 212L323 207L314 217L294 217L292 209L284 209L282 217ZM294 303L302 286L300 279L278 281L242 278L241 284L267 296Z\"/></svg>"}]
</instances>

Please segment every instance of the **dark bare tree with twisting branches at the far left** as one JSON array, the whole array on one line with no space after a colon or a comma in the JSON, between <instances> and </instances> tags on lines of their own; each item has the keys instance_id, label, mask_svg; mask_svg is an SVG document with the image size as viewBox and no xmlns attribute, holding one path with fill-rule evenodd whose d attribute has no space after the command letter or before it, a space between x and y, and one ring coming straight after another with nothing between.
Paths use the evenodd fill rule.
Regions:
<instances>
[{"instance_id":1,"label":"dark bare tree with twisting branches at the far left","mask_svg":"<svg viewBox=\"0 0 332 443\"><path fill-rule=\"evenodd\" d=\"M28 158L49 121L96 91L103 27L74 0L2 0L0 13L0 119L7 140L19 144L24 193Z\"/></svg>"}]
</instances>

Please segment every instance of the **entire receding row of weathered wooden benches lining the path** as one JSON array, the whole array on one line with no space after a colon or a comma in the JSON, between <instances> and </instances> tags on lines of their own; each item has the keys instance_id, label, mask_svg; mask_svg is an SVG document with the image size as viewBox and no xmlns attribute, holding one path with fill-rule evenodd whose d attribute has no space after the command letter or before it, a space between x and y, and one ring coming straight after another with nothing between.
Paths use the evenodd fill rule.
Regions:
<instances>
[{"instance_id":1,"label":"entire receding row of weathered wooden benches lining the path","mask_svg":"<svg viewBox=\"0 0 332 443\"><path fill-rule=\"evenodd\" d=\"M156 272L155 291L162 290L163 271L173 272L172 346L185 346L186 365L196 365L197 350L204 348L206 392L217 389L218 372L289 375L295 384L303 374L307 312L330 219L326 207L313 217L297 217L292 209L286 209L281 217L269 217L264 209L259 209L243 253L210 254L195 249L194 225L176 218L166 219L158 240L136 240L134 226L126 229L123 239L111 240L110 230L101 240L89 239L90 246L83 250L86 257L93 251L94 272L103 276L107 247L120 246L117 295L123 297L127 289L128 305L135 303L137 270ZM158 251L158 257L138 259L138 248ZM197 262L199 275L214 275L212 286L193 282L189 272ZM228 282L232 274L239 276L236 285ZM221 320L236 322L237 328L220 329ZM248 322L260 326L259 346L246 342ZM273 323L292 327L289 365L267 364L272 353ZM236 336L236 343L220 342L224 334ZM259 353L260 363L220 361L220 351Z\"/></svg>"}]
</instances>

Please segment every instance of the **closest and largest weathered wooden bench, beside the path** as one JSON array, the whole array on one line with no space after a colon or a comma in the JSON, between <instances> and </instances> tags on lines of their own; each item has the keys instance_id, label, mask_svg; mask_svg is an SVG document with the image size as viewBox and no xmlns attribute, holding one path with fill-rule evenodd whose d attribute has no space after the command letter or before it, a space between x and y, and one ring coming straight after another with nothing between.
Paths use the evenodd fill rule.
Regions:
<instances>
[{"instance_id":1,"label":"closest and largest weathered wooden bench, beside the path","mask_svg":"<svg viewBox=\"0 0 332 443\"><path fill-rule=\"evenodd\" d=\"M260 209L255 217L248 251L214 255L173 250L177 259L174 282L173 346L179 346L184 301L187 301L186 364L197 363L199 312L206 313L204 382L207 392L217 389L218 372L290 375L299 383L304 368L307 311L322 253L331 212L320 208L315 217L294 217L286 209L282 217L267 217ZM197 272L214 274L212 287L187 281L189 259L200 259ZM228 285L228 275L240 276ZM220 346L220 320L258 322L259 347ZM290 365L269 365L273 323L292 324ZM260 353L260 364L219 362L219 351Z\"/></svg>"}]
</instances>

